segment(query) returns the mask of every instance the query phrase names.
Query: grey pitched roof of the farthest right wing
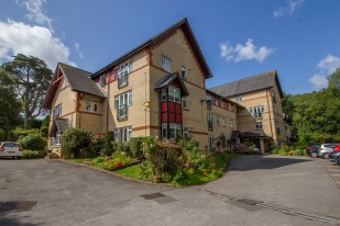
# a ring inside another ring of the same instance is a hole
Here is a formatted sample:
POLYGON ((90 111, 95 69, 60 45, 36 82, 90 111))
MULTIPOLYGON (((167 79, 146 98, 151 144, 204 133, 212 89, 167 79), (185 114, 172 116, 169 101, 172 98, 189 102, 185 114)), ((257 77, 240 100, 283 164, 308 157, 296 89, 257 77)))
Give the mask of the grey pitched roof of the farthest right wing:
POLYGON ((282 88, 278 81, 276 70, 271 70, 264 74, 252 76, 238 81, 229 82, 218 87, 212 87, 209 90, 216 92, 222 97, 229 98, 238 94, 243 94, 248 92, 253 92, 257 90, 263 90, 267 88, 273 88, 277 84, 281 98, 283 97, 282 88))

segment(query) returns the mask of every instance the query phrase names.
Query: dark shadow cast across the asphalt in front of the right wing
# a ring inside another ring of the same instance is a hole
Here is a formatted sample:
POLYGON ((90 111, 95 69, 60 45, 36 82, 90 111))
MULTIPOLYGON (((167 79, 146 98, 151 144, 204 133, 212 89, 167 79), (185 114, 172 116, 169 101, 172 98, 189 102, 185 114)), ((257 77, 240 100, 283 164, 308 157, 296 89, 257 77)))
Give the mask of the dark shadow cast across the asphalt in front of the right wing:
POLYGON ((271 157, 271 156, 242 156, 232 159, 228 171, 249 171, 256 169, 275 169, 295 163, 312 161, 308 158, 271 157))

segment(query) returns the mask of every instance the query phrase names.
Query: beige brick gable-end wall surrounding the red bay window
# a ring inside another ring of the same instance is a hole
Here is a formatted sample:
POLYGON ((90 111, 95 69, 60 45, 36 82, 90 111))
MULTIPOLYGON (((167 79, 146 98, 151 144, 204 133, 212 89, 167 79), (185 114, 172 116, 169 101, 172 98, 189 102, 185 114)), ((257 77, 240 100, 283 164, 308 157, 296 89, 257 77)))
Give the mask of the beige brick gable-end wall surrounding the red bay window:
MULTIPOLYGON (((188 69, 188 77, 184 83, 189 92, 188 110, 183 111, 183 127, 189 128, 189 134, 200 142, 201 147, 208 144, 207 137, 207 106, 201 100, 206 100, 205 77, 194 56, 188 42, 180 29, 167 39, 152 49, 151 67, 151 124, 158 125, 158 94, 154 91, 154 83, 169 72, 161 69, 161 56, 172 60, 172 71, 180 75, 182 66, 188 69)), ((153 134, 158 132, 154 131, 153 134)))

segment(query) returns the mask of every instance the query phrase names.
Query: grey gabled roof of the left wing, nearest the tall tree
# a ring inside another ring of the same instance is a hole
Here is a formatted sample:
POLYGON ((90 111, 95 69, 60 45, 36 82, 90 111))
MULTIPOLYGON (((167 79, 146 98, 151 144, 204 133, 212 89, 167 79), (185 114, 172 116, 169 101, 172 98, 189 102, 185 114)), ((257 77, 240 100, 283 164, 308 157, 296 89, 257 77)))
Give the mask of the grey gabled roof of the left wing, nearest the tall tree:
POLYGON ((47 94, 43 103, 43 109, 51 109, 53 98, 58 89, 58 86, 56 83, 53 83, 57 78, 58 70, 62 71, 64 78, 67 80, 69 84, 69 88, 73 91, 83 92, 103 99, 107 98, 106 94, 99 88, 99 86, 96 83, 96 81, 90 79, 91 76, 90 72, 72 67, 69 65, 58 63, 55 70, 54 79, 52 80, 48 87, 47 94))

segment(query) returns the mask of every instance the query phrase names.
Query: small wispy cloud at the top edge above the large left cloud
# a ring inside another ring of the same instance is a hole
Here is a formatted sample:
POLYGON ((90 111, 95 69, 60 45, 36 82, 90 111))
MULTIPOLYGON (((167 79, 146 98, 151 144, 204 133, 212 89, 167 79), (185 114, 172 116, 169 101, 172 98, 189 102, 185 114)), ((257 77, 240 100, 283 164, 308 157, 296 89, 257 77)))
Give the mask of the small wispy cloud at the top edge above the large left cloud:
POLYGON ((47 25, 53 32, 52 19, 47 16, 46 11, 43 9, 43 4, 46 3, 46 0, 17 0, 17 3, 29 11, 29 13, 25 14, 26 19, 35 21, 41 25, 47 25))

